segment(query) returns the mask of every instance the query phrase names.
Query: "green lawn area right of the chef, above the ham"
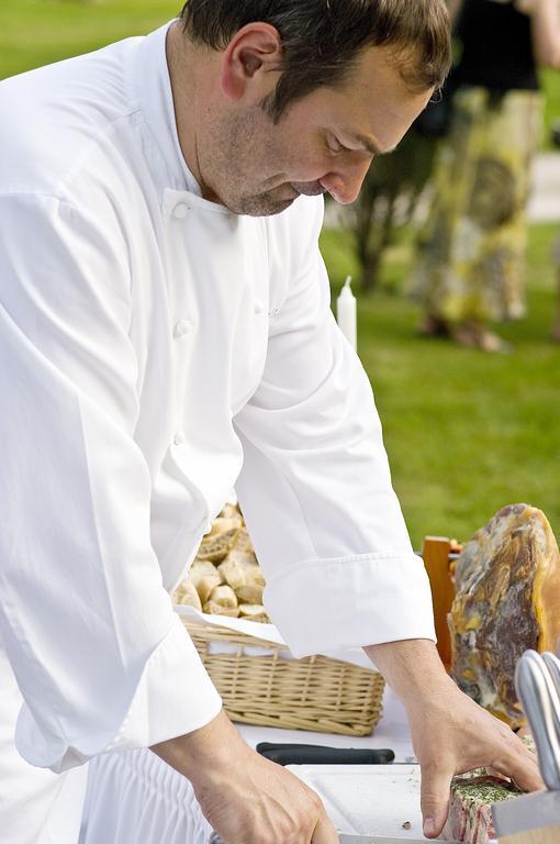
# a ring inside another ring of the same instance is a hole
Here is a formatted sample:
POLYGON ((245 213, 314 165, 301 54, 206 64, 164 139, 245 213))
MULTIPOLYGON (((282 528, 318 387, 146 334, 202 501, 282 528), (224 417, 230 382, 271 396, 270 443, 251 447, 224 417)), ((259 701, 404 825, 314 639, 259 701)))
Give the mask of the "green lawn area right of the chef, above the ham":
MULTIPOLYGON (((410 266, 405 247, 389 255, 382 292, 358 293, 359 353, 416 545, 426 533, 469 537, 515 501, 544 509, 560 534, 560 348, 548 340, 556 233, 531 227, 529 314, 500 327, 509 355, 416 335, 416 304, 393 290, 410 266)), ((336 293, 356 268, 348 234, 327 231, 322 246, 336 293)))

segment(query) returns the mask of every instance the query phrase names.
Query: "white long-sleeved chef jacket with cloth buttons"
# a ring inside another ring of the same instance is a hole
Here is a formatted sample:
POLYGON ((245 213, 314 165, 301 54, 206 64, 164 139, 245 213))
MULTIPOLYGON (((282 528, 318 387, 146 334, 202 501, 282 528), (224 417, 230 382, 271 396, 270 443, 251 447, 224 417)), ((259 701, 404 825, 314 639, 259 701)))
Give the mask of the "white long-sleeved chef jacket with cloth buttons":
POLYGON ((167 29, 0 85, 0 635, 54 771, 220 710, 169 591, 233 485, 294 654, 434 638, 322 200, 201 198, 167 29))

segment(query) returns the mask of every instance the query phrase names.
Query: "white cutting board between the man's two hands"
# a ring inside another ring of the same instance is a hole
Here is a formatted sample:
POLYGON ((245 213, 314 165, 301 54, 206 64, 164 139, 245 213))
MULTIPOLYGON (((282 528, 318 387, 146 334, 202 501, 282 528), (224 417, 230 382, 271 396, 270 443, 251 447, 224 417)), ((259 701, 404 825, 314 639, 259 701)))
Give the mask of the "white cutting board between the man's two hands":
POLYGON ((290 770, 320 795, 339 832, 424 837, 419 765, 290 765, 290 770))

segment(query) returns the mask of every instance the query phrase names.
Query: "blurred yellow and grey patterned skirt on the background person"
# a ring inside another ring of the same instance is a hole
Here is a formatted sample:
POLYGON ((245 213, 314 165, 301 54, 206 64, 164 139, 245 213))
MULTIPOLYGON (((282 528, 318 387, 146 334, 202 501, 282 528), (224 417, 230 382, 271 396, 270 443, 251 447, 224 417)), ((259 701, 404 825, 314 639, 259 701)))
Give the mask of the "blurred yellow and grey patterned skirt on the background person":
POLYGON ((448 325, 525 313, 525 210, 540 127, 537 91, 460 89, 419 238, 415 293, 448 325))

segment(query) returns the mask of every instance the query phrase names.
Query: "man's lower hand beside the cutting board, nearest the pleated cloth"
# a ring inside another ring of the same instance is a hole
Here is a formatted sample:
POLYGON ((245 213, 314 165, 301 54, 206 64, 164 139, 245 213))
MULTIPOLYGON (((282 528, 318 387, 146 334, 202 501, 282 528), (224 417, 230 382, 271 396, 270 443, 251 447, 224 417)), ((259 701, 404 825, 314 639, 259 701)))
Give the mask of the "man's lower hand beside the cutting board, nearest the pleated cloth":
POLYGON ((224 712, 152 749, 190 779, 224 844, 338 844, 317 795, 250 749, 224 712))

